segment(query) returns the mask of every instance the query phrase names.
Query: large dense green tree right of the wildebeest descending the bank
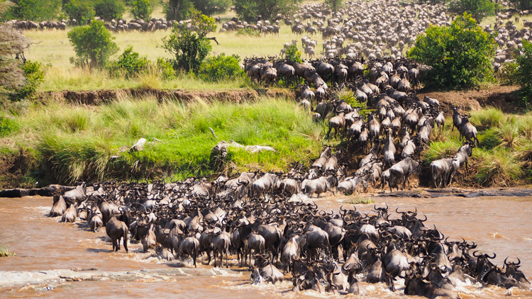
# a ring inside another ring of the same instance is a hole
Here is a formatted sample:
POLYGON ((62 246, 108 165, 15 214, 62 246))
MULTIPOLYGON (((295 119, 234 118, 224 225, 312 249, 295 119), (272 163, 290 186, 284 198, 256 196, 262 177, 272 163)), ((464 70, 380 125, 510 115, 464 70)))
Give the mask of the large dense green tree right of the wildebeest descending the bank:
POLYGON ((477 26, 469 13, 450 26, 430 26, 408 52, 411 59, 428 64, 428 85, 448 89, 470 88, 493 77, 493 35, 477 26))

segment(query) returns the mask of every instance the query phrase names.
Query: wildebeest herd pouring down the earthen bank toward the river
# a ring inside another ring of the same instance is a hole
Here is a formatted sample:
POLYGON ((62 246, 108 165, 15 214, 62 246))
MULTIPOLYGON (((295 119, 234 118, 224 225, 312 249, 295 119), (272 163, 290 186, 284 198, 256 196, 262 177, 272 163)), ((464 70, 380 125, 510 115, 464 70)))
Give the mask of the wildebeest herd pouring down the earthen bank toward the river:
MULTIPOLYGON (((420 71, 411 60, 335 58, 299 63, 248 58, 245 62, 248 76, 257 83, 269 85, 280 77, 294 86, 304 80, 306 84, 298 85, 299 104, 312 110, 316 121, 328 120, 328 140, 331 135, 335 140, 343 137, 338 145, 341 150, 323 151, 301 176, 302 191, 306 191, 304 179, 318 179, 323 174, 329 174, 331 185, 331 181, 338 182, 338 190, 344 192, 355 192, 358 186, 366 191, 369 184, 378 187, 379 181, 382 188, 388 184, 392 190, 402 180, 406 188, 410 175, 419 173, 419 157, 430 144, 434 128, 441 130, 445 125, 443 104, 436 98, 416 96, 412 86, 419 84, 420 71), (341 100, 341 89, 352 91, 366 108, 353 108, 341 100), (356 162, 353 153, 366 156, 356 162), (352 175, 346 177, 348 174, 352 175)), ((479 142, 477 129, 469 121, 471 115, 461 114, 458 106, 449 108, 453 111, 453 130, 458 129, 464 144, 454 156, 427 165, 436 187, 449 186, 460 167, 465 165, 467 170, 467 159, 479 142)))

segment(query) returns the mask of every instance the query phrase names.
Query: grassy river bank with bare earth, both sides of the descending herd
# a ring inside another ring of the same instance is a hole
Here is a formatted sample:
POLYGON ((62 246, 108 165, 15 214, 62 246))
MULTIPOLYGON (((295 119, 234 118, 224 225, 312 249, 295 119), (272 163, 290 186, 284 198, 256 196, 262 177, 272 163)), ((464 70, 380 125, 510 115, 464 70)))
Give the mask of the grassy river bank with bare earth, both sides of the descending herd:
MULTIPOLYGON (((469 171, 453 186, 514 187, 532 182, 532 113, 518 113, 516 86, 480 91, 419 91, 444 106, 470 111, 479 130, 469 171), (492 108, 498 107, 498 108, 492 108), (505 113, 505 111, 507 113, 505 113)), ((248 169, 287 172, 294 162, 309 167, 323 145, 344 150, 345 140, 328 140, 328 123, 311 113, 286 89, 179 91, 119 89, 42 94, 38 103, 0 113, 0 189, 33 188, 84 181, 175 181, 187 176, 215 178, 248 169), (213 129, 211 132, 210 129, 213 129), (143 151, 129 150, 145 138, 143 151), (223 164, 211 159, 221 140, 265 145, 275 152, 231 150, 223 164)), ((431 186, 430 162, 452 157, 462 145, 450 111, 443 129, 419 158, 419 186, 431 186)), ((365 152, 345 161, 354 171, 365 152)), ((397 154, 396 160, 399 159, 397 154)))

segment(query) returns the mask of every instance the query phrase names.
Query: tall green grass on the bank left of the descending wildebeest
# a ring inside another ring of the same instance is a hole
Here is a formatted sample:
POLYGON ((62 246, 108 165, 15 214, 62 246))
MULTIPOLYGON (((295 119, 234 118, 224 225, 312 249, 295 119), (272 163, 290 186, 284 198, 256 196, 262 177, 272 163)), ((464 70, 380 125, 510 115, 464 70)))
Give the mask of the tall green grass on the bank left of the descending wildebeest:
POLYGON ((287 171, 294 161, 314 159, 323 137, 323 127, 309 113, 282 98, 239 104, 123 98, 95 107, 50 101, 13 118, 20 124, 18 133, 0 143, 6 149, 35 149, 41 169, 36 176, 43 184, 212 176, 211 148, 221 140, 276 150, 250 154, 230 149, 229 171, 287 171), (119 150, 141 137, 148 140, 145 150, 119 150))

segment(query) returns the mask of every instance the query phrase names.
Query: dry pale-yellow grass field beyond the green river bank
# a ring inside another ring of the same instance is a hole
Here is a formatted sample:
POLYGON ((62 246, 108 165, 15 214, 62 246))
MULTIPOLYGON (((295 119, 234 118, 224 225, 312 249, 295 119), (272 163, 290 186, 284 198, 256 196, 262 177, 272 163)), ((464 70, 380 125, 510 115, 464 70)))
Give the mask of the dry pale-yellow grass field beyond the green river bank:
MULTIPOLYGON (((218 24, 221 28, 221 24, 218 24)), ((82 69, 70 63, 70 57, 74 57, 74 50, 67 38, 68 28, 65 31, 44 30, 27 31, 25 34, 31 38, 33 44, 26 53, 28 60, 34 60, 45 64, 45 81, 38 91, 60 90, 97 90, 97 89, 121 89, 134 87, 148 87, 155 89, 189 89, 189 90, 219 90, 239 89, 246 86, 245 81, 228 81, 218 84, 205 83, 183 74, 177 79, 163 80, 157 74, 145 74, 134 79, 123 77, 111 77, 107 72, 82 69)), ((217 30, 218 31, 218 30, 217 30)), ((155 61, 157 57, 169 58, 170 55, 162 49, 162 38, 170 34, 167 31, 155 31, 153 33, 126 32, 113 33, 115 42, 120 47, 121 53, 128 46, 140 55, 147 56, 155 61)), ((298 40, 301 47, 302 35, 292 34, 288 26, 281 25, 279 35, 235 35, 231 33, 211 33, 216 37, 220 45, 212 43, 211 55, 225 53, 226 55, 238 55, 243 60, 245 57, 267 57, 279 55, 284 43, 289 40, 298 40)), ((321 35, 314 35, 321 49, 321 35)), ((118 54, 119 54, 118 53, 118 54)), ((118 55, 117 54, 117 55, 118 55)))

